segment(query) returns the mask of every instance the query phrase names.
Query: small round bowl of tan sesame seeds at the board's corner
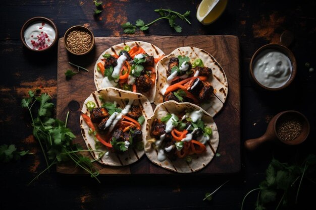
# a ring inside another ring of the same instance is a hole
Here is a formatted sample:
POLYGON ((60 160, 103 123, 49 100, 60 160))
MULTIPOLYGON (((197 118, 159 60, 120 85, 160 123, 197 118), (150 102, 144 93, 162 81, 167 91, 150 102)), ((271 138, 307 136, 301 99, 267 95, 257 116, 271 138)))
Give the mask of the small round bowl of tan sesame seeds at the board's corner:
POLYGON ((94 36, 87 27, 73 26, 66 31, 64 44, 70 53, 85 55, 94 47, 94 36))

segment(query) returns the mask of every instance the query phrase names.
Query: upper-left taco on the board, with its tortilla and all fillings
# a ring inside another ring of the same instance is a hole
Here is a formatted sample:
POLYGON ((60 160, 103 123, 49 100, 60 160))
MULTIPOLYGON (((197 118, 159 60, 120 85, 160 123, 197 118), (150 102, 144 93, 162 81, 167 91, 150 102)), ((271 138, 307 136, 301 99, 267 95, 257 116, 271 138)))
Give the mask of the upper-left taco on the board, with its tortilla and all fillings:
POLYGON ((116 87, 145 95, 152 103, 156 91, 156 63, 164 52, 142 41, 126 42, 104 51, 94 66, 96 89, 116 87))

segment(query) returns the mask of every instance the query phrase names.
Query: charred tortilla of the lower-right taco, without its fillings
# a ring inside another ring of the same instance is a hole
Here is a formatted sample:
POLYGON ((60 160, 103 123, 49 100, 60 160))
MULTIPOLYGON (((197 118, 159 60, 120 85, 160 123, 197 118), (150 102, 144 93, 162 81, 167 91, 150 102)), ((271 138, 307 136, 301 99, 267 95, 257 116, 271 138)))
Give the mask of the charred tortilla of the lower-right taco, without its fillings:
POLYGON ((191 155, 192 161, 186 162, 185 158, 180 159, 177 158, 175 161, 171 161, 168 158, 160 162, 157 159, 158 151, 154 148, 153 142, 154 137, 150 136, 151 125, 154 119, 161 119, 162 117, 166 116, 168 113, 174 113, 175 115, 179 115, 183 113, 185 110, 201 110, 201 108, 197 105, 191 103, 178 103, 175 101, 167 101, 158 106, 156 106, 153 116, 147 120, 146 130, 146 142, 145 142, 145 153, 149 160, 165 169, 175 171, 178 173, 191 173, 204 168, 214 157, 216 154, 216 150, 219 145, 220 136, 217 129, 217 126, 213 120, 213 117, 210 116, 207 112, 203 111, 203 116, 201 120, 204 122, 206 126, 212 128, 212 136, 209 136, 209 140, 206 142, 206 151, 202 154, 195 154, 191 155))

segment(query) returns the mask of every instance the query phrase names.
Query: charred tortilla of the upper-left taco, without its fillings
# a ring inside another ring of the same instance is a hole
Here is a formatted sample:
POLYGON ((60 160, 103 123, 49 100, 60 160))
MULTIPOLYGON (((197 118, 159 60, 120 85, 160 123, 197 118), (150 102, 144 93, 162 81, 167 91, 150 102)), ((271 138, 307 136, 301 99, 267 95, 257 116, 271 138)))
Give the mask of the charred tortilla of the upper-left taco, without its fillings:
MULTIPOLYGON (((153 56, 154 58, 157 58, 157 57, 164 55, 164 52, 159 47, 157 47, 153 44, 150 44, 148 42, 143 42, 143 41, 126 42, 126 43, 121 43, 121 44, 117 44, 117 45, 110 47, 109 49, 107 49, 106 51, 101 53, 101 55, 99 56, 99 58, 97 59, 95 65, 94 65, 94 84, 95 84, 96 90, 99 90, 102 88, 101 84, 102 84, 102 80, 104 78, 104 76, 101 73, 99 73, 96 69, 97 63, 101 62, 101 59, 104 58, 102 55, 106 54, 106 53, 119 54, 120 51, 125 46, 129 46, 130 48, 132 48, 136 45, 141 46, 149 56, 153 56)), ((155 68, 156 65, 157 64, 154 63, 153 67, 155 68)), ((157 81, 157 77, 156 77, 156 81, 157 81)), ((153 87, 148 92, 140 92, 141 94, 143 94, 144 96, 146 96, 148 98, 150 103, 152 103, 154 100, 154 95, 156 92, 156 87, 155 87, 156 81, 155 81, 155 84, 153 85, 153 87)))

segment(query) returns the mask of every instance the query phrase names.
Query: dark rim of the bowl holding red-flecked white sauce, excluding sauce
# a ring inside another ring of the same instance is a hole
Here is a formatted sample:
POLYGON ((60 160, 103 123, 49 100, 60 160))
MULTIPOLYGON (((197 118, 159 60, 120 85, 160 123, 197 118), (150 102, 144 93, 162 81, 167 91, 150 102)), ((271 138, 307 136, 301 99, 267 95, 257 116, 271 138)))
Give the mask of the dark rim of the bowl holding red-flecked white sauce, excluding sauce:
POLYGON ((58 29, 57 29, 57 26, 54 22, 52 22, 52 20, 48 19, 48 18, 45 18, 45 17, 42 17, 42 16, 36 16, 36 17, 33 17, 33 18, 30 18, 28 19, 22 26, 21 28, 21 31, 20 31, 20 38, 21 38, 21 41, 23 42, 24 46, 34 52, 42 52, 42 51, 47 51, 49 49, 51 49, 53 46, 55 46, 55 44, 57 43, 57 40, 58 40, 58 29), (54 41, 52 41, 52 43, 46 47, 45 49, 41 49, 41 50, 38 50, 38 49, 33 49, 31 47, 29 47, 25 41, 25 38, 24 38, 24 32, 26 30, 26 28, 34 23, 34 22, 38 22, 38 21, 45 21, 45 22, 48 22, 52 28, 54 28, 55 30, 55 39, 54 41))

